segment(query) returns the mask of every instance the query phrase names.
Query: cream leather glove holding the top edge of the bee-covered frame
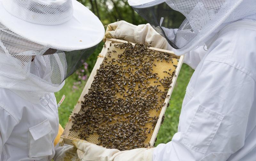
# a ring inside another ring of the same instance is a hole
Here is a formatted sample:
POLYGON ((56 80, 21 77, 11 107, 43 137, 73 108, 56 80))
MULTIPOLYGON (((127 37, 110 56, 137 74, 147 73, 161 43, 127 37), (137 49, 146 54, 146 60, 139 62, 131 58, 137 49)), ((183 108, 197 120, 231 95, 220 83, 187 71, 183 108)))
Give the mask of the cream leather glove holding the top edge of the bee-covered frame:
POLYGON ((168 42, 150 25, 132 25, 126 21, 117 21, 107 26, 105 37, 144 43, 155 48, 167 49, 168 42))

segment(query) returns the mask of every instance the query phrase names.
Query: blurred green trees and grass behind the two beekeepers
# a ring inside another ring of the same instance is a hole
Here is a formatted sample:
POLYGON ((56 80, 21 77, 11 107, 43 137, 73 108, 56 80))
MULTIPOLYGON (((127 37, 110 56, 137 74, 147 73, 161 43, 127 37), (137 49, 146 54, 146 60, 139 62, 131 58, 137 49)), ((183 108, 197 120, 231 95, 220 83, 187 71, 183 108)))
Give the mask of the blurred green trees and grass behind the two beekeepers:
MULTIPOLYGON (((135 11, 133 11, 127 0, 80 0, 79 2, 84 4, 96 16, 98 16, 105 28, 108 24, 118 20, 125 20, 134 25, 147 23, 135 11)), ((170 14, 173 19, 170 19, 169 23, 172 28, 178 28, 184 20, 184 17, 176 11, 170 12, 170 14)), ((98 48, 86 60, 86 62, 84 62, 83 66, 73 75, 68 77, 64 87, 59 92, 55 93, 57 103, 60 101, 62 95, 66 95, 66 99, 59 108, 60 124, 63 128, 68 122, 68 117, 72 113, 74 106, 76 106, 76 102, 84 89, 86 81, 90 76, 97 60, 97 56, 101 52, 103 45, 104 43, 100 42, 98 48)), ((170 106, 165 112, 164 123, 157 135, 156 145, 159 143, 168 143, 172 140, 172 136, 177 132, 182 100, 193 72, 194 70, 188 65, 182 65, 178 80, 172 92, 170 106)))

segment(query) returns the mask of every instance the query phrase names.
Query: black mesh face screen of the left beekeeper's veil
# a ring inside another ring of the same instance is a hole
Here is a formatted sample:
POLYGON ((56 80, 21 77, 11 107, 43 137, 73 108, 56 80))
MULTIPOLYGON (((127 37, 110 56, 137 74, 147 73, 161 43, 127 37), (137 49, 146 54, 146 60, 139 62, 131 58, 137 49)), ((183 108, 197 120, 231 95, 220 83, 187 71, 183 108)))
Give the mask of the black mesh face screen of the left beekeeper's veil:
POLYGON ((83 65, 85 60, 94 52, 97 46, 98 45, 84 50, 65 52, 65 57, 67 61, 67 75, 65 79, 72 75, 76 70, 78 70, 83 65))

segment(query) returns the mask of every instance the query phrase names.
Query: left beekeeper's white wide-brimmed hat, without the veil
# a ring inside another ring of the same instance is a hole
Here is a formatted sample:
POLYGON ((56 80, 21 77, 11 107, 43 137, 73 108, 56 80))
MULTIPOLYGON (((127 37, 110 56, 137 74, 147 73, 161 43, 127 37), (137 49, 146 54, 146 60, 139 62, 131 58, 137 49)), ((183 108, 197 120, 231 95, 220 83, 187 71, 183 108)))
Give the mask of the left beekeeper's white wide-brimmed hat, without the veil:
POLYGON ((91 48, 104 26, 76 0, 0 0, 0 23, 24 39, 72 51, 91 48))

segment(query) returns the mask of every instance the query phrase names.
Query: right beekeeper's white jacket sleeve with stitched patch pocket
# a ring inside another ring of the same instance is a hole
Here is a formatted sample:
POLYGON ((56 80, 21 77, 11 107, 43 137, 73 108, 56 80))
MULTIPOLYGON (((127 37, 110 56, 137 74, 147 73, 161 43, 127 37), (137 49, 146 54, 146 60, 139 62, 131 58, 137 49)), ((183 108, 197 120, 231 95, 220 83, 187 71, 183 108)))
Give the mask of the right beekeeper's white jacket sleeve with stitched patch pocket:
POLYGON ((182 107, 179 132, 156 147, 153 161, 226 161, 244 146, 254 90, 244 72, 204 61, 194 94, 182 107))

